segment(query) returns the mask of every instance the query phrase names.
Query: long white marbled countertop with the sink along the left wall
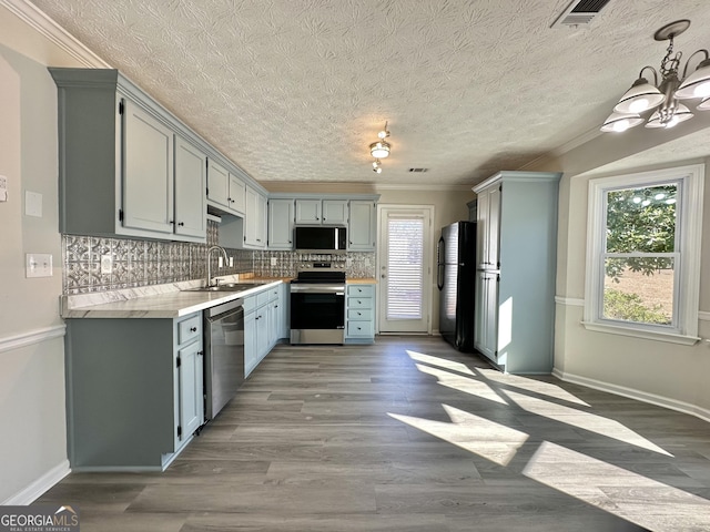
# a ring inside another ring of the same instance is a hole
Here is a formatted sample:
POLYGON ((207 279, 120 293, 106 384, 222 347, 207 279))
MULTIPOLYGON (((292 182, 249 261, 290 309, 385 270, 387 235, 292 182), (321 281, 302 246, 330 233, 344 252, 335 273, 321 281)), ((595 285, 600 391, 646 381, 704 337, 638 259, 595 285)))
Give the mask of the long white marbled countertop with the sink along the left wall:
POLYGON ((63 318, 179 318, 248 297, 283 282, 270 279, 258 283, 258 286, 243 291, 185 291, 200 286, 200 283, 186 282, 62 296, 61 315, 63 318))

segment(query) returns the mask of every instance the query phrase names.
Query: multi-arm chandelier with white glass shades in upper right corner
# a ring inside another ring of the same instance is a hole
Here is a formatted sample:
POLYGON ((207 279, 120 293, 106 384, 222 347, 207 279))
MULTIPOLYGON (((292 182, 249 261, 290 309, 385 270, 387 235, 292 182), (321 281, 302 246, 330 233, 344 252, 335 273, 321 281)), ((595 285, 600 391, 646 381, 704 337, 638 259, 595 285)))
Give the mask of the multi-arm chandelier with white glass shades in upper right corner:
POLYGON ((700 111, 710 110, 710 54, 708 50, 697 50, 686 61, 682 79, 678 76, 682 52, 673 54, 673 39, 690 27, 690 20, 677 20, 666 24, 653 33, 657 41, 669 41, 666 57, 661 61, 660 71, 653 66, 643 66, 639 79, 633 82, 613 108, 613 112, 605 121, 601 131, 622 132, 646 121, 646 127, 672 127, 680 122, 692 119, 693 114, 679 100, 702 99, 696 108, 700 111), (696 71, 688 75, 690 60, 697 54, 704 59, 696 71), (653 74, 653 84, 649 83, 643 73, 653 74), (660 83, 659 83, 660 73, 660 83), (641 114, 655 110, 648 117, 641 114))

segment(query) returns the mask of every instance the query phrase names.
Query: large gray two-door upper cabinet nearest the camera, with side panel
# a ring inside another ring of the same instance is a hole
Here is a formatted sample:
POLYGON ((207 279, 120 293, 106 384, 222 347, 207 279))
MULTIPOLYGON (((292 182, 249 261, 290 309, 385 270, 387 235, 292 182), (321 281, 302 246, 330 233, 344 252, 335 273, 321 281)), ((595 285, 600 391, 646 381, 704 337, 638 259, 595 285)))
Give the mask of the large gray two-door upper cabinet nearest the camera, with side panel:
POLYGON ((50 68, 58 86, 61 233, 206 237, 206 155, 115 70, 50 68))

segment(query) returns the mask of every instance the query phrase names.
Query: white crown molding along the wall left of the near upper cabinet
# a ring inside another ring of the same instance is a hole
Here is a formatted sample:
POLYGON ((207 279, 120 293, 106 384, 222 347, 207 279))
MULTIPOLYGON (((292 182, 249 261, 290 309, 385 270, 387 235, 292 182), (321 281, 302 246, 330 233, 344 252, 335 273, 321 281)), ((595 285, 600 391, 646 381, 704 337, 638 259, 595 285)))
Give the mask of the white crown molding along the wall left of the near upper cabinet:
POLYGON ((0 0, 0 7, 8 9, 26 24, 41 33, 84 66, 92 69, 111 68, 109 63, 89 50, 77 38, 28 0, 0 0))

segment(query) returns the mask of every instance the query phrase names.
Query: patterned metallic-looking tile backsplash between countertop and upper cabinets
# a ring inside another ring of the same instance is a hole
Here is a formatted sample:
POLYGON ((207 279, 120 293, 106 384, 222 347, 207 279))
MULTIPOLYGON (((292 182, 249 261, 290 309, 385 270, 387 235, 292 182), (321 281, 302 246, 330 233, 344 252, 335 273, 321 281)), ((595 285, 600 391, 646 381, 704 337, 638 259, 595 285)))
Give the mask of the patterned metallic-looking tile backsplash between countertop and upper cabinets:
MULTIPOLYGON (((62 235, 63 293, 87 294, 136 286, 160 285, 206 276, 206 253, 219 243, 219 224, 207 222, 206 244, 100 238, 62 235), (111 256, 111 273, 102 273, 101 259, 111 256)), ((227 249, 233 267, 217 269, 212 255, 212 272, 230 275, 254 272, 258 277, 294 277, 302 260, 344 260, 348 277, 374 277, 374 253, 346 255, 306 255, 295 252, 227 249), (273 260, 272 260, 273 259, 273 260)))

